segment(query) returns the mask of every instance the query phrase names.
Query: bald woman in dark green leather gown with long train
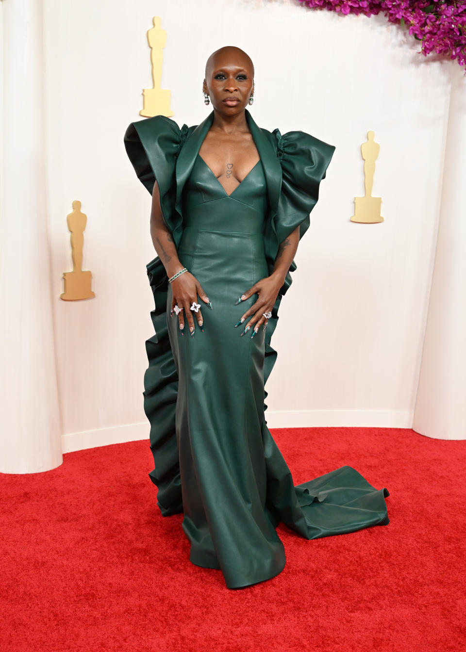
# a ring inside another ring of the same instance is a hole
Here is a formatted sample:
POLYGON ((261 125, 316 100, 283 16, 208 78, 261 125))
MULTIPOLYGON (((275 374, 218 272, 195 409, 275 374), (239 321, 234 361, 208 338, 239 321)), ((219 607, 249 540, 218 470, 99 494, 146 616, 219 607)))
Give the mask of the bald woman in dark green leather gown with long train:
POLYGON ((158 115, 125 147, 152 194, 148 265, 155 335, 146 342, 144 409, 157 504, 183 512, 192 563, 239 588, 279 574, 281 520, 305 539, 388 524, 385 497, 343 466, 293 485, 264 418, 264 383, 281 297, 335 147, 258 127, 254 68, 240 48, 214 52, 198 126, 158 115), (199 301, 198 301, 199 299, 199 301))

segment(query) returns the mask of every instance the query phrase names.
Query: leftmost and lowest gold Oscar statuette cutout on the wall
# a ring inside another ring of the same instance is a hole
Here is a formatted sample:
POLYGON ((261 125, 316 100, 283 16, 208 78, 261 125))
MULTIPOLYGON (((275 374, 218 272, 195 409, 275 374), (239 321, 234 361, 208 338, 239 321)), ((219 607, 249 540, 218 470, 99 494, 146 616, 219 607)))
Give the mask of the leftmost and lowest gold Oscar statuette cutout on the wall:
POLYGON ((84 244, 84 230, 87 222, 87 215, 81 213, 81 202, 78 200, 72 203, 72 213, 67 215, 68 229, 71 233, 71 259, 73 263, 72 272, 64 272, 65 291, 61 293, 63 301, 79 301, 79 299, 91 299, 95 294, 91 290, 91 272, 84 272, 82 266, 82 246, 84 244))

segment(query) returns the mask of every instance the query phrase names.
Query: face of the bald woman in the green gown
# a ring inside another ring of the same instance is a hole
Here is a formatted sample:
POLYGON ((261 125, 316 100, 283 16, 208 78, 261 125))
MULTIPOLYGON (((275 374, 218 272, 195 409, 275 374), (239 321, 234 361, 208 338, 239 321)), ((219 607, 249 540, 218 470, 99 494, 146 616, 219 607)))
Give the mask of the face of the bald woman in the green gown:
POLYGON ((215 57, 206 70, 204 91, 215 110, 225 115, 243 111, 253 91, 254 69, 246 57, 215 57))

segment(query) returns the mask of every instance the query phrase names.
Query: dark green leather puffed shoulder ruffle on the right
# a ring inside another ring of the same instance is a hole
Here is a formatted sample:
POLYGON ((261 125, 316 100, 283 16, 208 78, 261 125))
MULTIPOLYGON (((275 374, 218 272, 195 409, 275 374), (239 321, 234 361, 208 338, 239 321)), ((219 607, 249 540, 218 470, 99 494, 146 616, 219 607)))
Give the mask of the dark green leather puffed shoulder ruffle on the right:
POLYGON ((304 131, 288 131, 282 136, 279 129, 274 129, 272 134, 282 170, 275 218, 275 231, 281 243, 298 225, 300 238, 309 228, 309 213, 317 203, 320 181, 325 179, 335 146, 304 131))

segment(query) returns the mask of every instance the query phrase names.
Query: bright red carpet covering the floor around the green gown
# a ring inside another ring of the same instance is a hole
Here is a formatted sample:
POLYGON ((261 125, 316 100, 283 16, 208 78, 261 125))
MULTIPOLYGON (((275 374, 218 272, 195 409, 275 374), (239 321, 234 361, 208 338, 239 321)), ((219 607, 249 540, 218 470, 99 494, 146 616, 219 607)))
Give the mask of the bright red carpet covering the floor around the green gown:
POLYGON ((386 487, 390 524, 306 541, 231 591, 164 518, 148 441, 0 475, 0 649, 138 652, 466 649, 466 441, 388 428, 273 430, 294 484, 349 464, 386 487))

